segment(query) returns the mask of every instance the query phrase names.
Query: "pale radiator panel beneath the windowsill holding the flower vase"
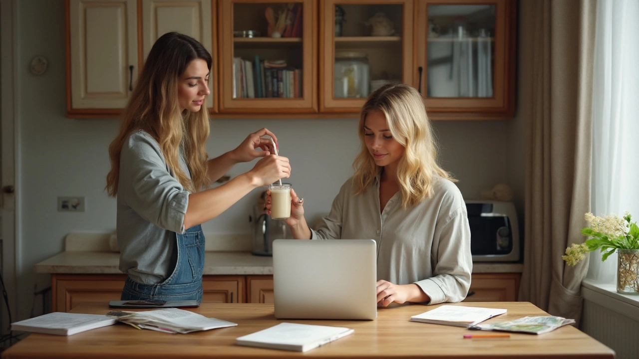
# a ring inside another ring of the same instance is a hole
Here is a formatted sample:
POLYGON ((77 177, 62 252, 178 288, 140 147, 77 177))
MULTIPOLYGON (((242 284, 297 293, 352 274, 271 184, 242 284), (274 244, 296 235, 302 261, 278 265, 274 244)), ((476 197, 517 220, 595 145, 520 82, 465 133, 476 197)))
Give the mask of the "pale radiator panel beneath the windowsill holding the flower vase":
POLYGON ((639 358, 639 302, 593 289, 581 287, 581 331, 613 349, 617 359, 639 358))

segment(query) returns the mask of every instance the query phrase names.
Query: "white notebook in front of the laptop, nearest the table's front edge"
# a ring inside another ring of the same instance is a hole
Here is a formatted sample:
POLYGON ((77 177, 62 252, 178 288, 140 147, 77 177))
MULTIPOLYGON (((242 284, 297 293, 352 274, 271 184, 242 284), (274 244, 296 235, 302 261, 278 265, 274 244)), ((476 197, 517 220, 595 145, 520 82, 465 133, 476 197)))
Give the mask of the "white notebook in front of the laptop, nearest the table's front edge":
POLYGON ((235 340, 241 346, 309 351, 353 333, 341 326, 280 323, 235 340))

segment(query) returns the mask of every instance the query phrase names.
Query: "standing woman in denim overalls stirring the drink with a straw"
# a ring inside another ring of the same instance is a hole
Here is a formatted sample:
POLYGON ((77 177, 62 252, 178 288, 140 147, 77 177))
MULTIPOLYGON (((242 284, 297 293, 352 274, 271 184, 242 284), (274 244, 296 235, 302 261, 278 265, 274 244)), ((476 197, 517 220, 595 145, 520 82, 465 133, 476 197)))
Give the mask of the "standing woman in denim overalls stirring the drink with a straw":
MULTIPOLYGON (((253 188, 288 178, 263 128, 208 159, 206 96, 211 55, 194 38, 167 33, 151 48, 109 146, 107 191, 118 202, 121 300, 202 300, 203 222, 253 188), (258 150, 261 148, 261 151, 258 150), (244 174, 208 188, 233 165, 263 157, 244 174)), ((275 142, 277 143, 277 142, 275 142)))

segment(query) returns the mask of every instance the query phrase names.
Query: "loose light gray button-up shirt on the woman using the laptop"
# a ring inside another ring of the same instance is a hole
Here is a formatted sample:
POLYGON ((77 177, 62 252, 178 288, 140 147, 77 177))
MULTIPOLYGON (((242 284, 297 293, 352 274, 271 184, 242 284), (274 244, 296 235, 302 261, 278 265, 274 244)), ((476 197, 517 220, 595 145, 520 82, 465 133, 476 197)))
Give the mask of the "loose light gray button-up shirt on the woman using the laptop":
POLYGON ((351 183, 344 183, 311 239, 372 238, 378 280, 415 283, 429 304, 461 302, 470 287, 472 257, 466 205, 454 183, 436 177, 433 197, 408 208, 397 192, 381 215, 380 176, 360 195, 351 183))

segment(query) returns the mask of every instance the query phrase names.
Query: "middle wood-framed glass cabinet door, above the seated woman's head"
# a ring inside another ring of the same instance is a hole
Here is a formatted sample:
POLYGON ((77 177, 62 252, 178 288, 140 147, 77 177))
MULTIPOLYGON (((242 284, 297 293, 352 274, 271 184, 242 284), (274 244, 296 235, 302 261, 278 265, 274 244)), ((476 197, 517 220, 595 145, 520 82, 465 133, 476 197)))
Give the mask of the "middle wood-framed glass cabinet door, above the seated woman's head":
POLYGON ((413 16, 410 0, 320 2, 321 112, 358 112, 384 84, 412 84, 413 16))

